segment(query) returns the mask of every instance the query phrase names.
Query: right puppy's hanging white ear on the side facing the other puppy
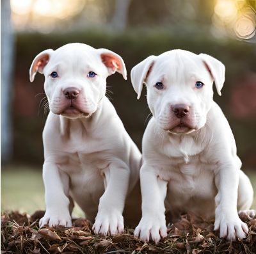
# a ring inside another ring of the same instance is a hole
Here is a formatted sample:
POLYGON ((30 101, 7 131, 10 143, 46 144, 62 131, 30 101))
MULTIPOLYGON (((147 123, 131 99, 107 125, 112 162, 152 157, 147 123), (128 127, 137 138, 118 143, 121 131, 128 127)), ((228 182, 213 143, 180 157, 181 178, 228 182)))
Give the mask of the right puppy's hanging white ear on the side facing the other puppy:
POLYGON ((148 58, 138 63, 138 65, 135 65, 131 70, 132 86, 136 93, 138 93, 137 99, 140 99, 143 83, 154 65, 155 60, 156 56, 148 56, 148 58))

